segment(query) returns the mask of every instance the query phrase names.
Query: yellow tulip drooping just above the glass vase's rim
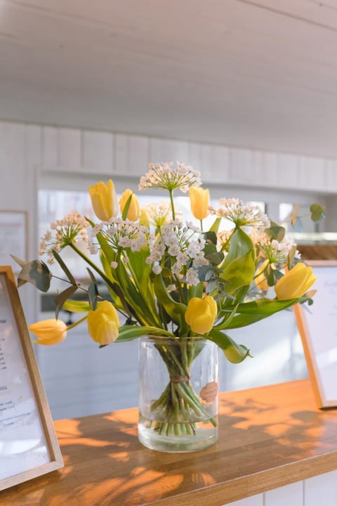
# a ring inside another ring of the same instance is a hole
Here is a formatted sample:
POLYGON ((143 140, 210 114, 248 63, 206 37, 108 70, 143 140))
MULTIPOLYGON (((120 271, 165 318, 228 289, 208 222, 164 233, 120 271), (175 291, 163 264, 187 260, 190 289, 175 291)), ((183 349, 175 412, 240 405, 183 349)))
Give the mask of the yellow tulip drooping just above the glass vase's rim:
POLYGON ((203 335, 213 328, 217 313, 218 307, 211 295, 207 295, 204 299, 192 297, 187 304, 185 321, 190 325, 192 332, 203 335))

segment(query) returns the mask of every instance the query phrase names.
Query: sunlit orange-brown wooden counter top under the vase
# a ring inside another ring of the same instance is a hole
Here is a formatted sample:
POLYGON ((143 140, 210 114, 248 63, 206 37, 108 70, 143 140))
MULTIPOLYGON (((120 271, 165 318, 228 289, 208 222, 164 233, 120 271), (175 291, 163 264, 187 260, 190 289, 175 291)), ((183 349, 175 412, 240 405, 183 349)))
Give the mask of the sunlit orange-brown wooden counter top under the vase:
POLYGON ((310 382, 220 394, 218 443, 148 450, 136 408, 55 422, 65 467, 0 493, 1 506, 220 506, 337 468, 337 409, 310 382))

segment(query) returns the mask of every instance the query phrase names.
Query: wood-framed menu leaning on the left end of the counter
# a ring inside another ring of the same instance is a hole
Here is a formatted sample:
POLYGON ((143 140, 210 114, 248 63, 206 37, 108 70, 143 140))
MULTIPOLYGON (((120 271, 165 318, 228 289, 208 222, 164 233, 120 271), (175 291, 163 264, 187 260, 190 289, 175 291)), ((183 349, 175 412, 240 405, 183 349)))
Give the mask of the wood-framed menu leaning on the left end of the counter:
POLYGON ((0 490, 63 466, 11 266, 0 266, 0 490))

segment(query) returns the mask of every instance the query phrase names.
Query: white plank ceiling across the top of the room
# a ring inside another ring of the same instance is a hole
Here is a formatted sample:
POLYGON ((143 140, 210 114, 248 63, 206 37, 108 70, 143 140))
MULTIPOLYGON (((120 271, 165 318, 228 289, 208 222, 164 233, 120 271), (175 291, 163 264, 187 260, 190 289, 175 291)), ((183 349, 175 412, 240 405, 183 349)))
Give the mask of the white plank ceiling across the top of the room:
POLYGON ((337 0, 0 0, 0 119, 337 157, 337 0))

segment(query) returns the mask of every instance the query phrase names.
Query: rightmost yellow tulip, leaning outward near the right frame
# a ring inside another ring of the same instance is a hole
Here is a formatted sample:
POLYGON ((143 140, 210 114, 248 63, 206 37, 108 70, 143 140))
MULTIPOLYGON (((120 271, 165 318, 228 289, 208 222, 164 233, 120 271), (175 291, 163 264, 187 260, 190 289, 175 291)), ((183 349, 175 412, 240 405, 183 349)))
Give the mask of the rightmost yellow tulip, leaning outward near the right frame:
POLYGON ((288 271, 275 285, 277 299, 298 299, 308 292, 311 285, 315 283, 316 276, 312 268, 305 264, 298 263, 288 271))

